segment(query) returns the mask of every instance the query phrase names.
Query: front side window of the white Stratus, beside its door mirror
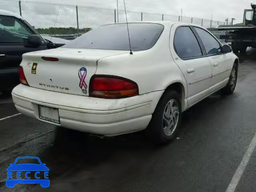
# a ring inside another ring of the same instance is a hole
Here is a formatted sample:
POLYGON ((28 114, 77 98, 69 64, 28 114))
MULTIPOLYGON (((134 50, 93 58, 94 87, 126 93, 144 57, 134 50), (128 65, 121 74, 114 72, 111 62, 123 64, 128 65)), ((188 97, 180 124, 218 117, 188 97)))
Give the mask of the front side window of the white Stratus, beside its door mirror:
POLYGON ((194 29, 202 40, 207 55, 219 54, 221 52, 219 42, 210 33, 198 27, 194 27, 194 29))

